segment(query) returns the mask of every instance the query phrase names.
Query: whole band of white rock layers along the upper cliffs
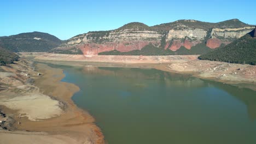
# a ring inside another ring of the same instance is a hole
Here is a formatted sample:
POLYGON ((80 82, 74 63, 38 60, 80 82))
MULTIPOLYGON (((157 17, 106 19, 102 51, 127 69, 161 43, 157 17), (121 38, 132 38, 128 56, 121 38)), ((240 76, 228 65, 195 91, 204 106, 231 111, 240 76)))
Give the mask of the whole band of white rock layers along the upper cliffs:
MULTIPOLYGON (((240 38, 243 35, 251 32, 254 27, 241 27, 241 28, 213 28, 209 38, 223 38, 234 39, 240 38)), ((68 40, 65 45, 78 45, 80 43, 89 44, 94 41, 102 40, 102 44, 105 42, 122 42, 122 41, 160 41, 164 36, 163 33, 141 29, 124 29, 121 31, 113 30, 109 32, 89 32, 85 34, 77 35, 68 40), (100 35, 100 36, 99 36, 100 35), (97 38, 96 38, 97 37, 97 38)), ((207 36, 207 30, 200 28, 183 27, 181 29, 171 29, 167 33, 166 41, 172 39, 184 39, 186 37, 202 41, 207 36)), ((207 38, 208 39, 208 38, 207 38)))

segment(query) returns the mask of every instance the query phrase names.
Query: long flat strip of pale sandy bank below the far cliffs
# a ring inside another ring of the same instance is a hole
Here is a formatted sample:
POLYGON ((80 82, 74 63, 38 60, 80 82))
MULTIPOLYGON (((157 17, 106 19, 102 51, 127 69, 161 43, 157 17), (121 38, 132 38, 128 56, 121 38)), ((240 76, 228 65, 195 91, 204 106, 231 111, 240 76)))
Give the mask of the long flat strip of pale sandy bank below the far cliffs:
MULTIPOLYGON (((40 53, 34 59, 46 61, 73 61, 73 62, 105 62, 105 63, 170 63, 196 59, 198 55, 176 56, 103 56, 103 55, 65 55, 58 53, 40 53)), ((25 57, 28 53, 22 53, 25 57)), ((31 55, 30 55, 31 56, 31 55)), ((32 55, 33 56, 33 55, 32 55)))

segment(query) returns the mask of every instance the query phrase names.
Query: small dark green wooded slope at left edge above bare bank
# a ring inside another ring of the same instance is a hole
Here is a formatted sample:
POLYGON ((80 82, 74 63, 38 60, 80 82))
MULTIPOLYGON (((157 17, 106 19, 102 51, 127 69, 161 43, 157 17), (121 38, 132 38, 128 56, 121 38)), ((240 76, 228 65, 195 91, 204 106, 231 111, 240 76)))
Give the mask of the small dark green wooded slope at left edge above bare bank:
POLYGON ((18 61, 19 56, 0 47, 0 65, 6 65, 18 61))

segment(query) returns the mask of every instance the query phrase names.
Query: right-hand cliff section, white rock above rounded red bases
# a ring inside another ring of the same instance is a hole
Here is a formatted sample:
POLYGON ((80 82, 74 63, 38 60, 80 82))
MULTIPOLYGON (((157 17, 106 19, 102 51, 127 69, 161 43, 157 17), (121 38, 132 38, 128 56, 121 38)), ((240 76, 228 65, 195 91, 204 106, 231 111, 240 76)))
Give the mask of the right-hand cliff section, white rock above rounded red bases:
MULTIPOLYGON (((253 27, 241 28, 212 28, 205 29, 184 28, 179 30, 171 29, 168 32, 166 42, 174 39, 170 50, 176 51, 181 46, 191 49, 196 44, 203 43, 206 40, 206 46, 211 49, 219 47, 221 44, 229 44, 232 40, 241 38, 243 35, 251 32, 253 27), (208 37, 207 37, 208 35, 208 37), (179 40, 176 40, 179 39, 179 40)), ((170 45, 170 43, 168 43, 170 45)), ((166 48, 166 47, 165 47, 166 48)))

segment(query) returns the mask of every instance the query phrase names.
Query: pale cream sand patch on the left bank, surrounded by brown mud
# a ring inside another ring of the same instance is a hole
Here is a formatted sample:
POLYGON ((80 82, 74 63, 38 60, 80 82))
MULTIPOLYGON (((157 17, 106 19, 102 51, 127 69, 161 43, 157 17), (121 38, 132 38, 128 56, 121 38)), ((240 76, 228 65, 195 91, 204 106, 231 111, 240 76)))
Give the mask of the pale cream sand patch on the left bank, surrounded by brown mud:
POLYGON ((4 97, 0 96, 0 105, 4 105, 9 109, 18 110, 20 115, 28 117, 31 121, 60 116, 63 112, 61 103, 51 99, 47 95, 20 94, 18 97, 10 98, 10 94, 5 94, 4 97))

